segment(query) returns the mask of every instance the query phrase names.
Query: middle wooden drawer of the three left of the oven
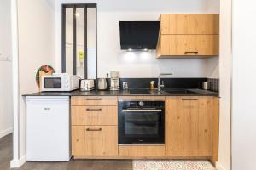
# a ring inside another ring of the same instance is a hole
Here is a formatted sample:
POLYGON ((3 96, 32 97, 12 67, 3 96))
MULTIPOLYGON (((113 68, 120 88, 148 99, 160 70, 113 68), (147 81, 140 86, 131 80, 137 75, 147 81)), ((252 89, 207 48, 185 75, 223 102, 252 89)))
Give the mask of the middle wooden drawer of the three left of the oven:
POLYGON ((72 125, 117 125, 117 106, 72 106, 72 125))

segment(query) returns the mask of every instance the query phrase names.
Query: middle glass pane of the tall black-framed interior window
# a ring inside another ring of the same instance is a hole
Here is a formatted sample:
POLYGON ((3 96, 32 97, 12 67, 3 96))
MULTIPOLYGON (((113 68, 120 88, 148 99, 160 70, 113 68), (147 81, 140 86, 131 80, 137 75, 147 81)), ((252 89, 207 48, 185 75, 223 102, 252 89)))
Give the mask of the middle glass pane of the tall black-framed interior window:
POLYGON ((84 8, 76 8, 77 75, 84 79, 84 8))

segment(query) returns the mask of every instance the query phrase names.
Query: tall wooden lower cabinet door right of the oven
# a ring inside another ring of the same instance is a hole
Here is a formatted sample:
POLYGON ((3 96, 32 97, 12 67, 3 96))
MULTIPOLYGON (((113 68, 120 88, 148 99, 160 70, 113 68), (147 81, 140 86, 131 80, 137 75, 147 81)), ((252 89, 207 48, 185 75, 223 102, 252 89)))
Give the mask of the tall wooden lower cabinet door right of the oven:
POLYGON ((166 99, 166 156, 210 156, 212 150, 211 99, 166 99))

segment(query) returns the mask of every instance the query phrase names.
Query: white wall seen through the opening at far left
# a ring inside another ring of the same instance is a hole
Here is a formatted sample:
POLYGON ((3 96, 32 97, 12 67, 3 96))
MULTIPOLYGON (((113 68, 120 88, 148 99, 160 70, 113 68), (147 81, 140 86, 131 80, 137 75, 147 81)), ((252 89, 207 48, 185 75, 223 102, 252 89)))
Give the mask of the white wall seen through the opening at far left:
POLYGON ((0 138, 13 130, 10 1, 0 0, 0 138))

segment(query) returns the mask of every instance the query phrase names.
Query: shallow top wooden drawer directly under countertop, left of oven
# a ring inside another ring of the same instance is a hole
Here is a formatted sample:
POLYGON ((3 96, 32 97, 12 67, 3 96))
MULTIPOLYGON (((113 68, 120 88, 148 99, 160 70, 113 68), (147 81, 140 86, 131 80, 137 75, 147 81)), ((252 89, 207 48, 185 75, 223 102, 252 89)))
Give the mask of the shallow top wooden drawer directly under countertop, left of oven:
POLYGON ((76 96, 71 105, 117 105, 116 96, 76 96))

